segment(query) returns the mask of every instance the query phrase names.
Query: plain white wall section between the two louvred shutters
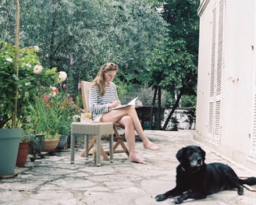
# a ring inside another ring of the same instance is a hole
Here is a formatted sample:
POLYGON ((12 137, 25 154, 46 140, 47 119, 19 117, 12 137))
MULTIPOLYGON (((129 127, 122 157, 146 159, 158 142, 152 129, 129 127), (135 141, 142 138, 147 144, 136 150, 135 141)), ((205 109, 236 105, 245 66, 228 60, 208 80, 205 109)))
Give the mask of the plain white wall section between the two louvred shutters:
POLYGON ((226 1, 222 144, 247 154, 251 133, 254 0, 226 1), (246 2, 246 3, 245 3, 246 2))

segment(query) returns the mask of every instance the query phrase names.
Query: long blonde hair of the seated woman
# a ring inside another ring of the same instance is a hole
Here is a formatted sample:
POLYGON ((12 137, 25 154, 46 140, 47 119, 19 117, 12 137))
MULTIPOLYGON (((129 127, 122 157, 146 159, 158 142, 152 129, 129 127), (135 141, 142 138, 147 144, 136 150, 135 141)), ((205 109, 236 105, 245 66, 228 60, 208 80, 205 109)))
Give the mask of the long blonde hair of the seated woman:
POLYGON ((107 62, 104 65, 101 65, 101 69, 93 80, 94 85, 99 87, 101 95, 105 94, 105 73, 110 70, 116 70, 116 72, 118 72, 118 65, 113 62, 107 62))

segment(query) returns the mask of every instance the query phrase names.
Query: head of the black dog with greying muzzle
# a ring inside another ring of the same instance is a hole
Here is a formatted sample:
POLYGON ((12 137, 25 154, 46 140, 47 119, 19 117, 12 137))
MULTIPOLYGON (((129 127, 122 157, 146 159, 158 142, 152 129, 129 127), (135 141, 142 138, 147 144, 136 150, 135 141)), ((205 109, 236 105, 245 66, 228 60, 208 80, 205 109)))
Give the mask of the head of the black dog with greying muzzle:
POLYGON ((180 149, 176 158, 180 161, 181 167, 185 171, 197 172, 200 170, 205 160, 205 151, 198 146, 187 146, 180 149))

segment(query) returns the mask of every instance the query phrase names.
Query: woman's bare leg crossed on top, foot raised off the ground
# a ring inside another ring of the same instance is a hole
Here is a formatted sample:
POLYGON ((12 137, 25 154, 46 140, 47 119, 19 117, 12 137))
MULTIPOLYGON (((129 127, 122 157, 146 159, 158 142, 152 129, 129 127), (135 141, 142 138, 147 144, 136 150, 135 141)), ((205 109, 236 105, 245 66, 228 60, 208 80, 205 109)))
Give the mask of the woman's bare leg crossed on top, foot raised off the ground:
MULTIPOLYGON (((143 141, 144 148, 150 150, 159 150, 160 147, 158 147, 154 143, 151 143, 151 141, 148 140, 148 137, 144 135, 144 130, 141 127, 140 119, 137 116, 137 111, 133 106, 128 106, 126 108, 109 111, 108 113, 102 116, 101 122, 119 122, 119 120, 123 118, 125 115, 129 115, 130 118, 132 119, 133 128, 136 130, 136 132, 140 136, 140 139, 143 141)), ((124 122, 119 123, 124 125, 124 122)))

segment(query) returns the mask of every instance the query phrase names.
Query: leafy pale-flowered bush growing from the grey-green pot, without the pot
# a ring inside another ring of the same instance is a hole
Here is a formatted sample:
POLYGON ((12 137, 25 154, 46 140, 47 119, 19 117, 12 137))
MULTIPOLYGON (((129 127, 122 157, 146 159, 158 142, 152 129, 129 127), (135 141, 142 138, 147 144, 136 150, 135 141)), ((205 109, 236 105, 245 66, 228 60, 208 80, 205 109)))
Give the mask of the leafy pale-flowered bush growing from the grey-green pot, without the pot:
POLYGON ((13 72, 16 49, 12 44, 0 41, 0 128, 22 126, 27 105, 34 94, 46 92, 48 85, 58 80, 56 68, 43 69, 37 56, 39 48, 20 48, 19 75, 13 72), (18 89, 18 90, 16 90, 18 89), (17 94, 17 95, 16 95, 17 94), (16 97, 16 105, 15 99, 16 97), (13 109, 16 107, 16 118, 13 125, 13 109))

